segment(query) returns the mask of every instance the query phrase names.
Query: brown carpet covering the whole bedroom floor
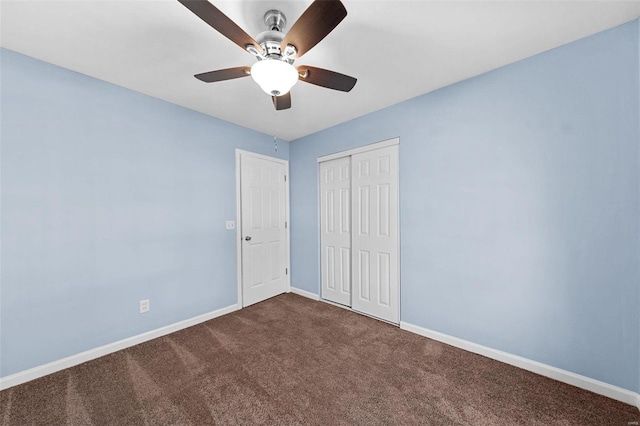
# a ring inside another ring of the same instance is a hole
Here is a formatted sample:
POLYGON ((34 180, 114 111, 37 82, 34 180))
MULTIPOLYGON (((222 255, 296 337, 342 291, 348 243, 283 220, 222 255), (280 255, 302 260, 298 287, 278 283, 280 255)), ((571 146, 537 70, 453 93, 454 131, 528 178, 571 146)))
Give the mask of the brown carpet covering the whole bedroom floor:
POLYGON ((635 407, 286 294, 0 392, 1 425, 620 425, 635 407))

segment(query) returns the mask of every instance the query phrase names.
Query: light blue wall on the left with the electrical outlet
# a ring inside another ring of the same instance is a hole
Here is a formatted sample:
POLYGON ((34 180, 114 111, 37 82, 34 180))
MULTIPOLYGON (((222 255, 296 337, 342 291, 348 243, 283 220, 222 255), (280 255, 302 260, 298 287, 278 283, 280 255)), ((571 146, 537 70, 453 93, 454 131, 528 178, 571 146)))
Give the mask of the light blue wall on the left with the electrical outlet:
POLYGON ((0 58, 0 376, 236 303, 235 148, 289 144, 0 58))

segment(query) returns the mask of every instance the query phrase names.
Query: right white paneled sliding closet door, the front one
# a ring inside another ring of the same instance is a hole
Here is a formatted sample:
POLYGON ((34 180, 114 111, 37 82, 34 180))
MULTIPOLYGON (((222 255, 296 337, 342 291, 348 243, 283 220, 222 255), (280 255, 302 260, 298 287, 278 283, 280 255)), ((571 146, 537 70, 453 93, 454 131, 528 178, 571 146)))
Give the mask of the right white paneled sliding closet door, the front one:
POLYGON ((399 318, 398 146, 351 158, 353 309, 399 318))

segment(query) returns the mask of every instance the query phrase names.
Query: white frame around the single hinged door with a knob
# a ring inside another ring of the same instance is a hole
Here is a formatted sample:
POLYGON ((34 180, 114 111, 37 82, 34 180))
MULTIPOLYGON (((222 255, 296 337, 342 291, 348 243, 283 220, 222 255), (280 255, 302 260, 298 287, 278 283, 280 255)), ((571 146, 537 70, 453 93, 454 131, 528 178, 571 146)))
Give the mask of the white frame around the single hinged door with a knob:
POLYGON ((286 167, 285 172, 285 220, 286 220, 286 245, 287 245, 287 275, 286 275, 286 291, 291 291, 291 239, 289 226, 289 161, 281 158, 269 157, 268 155, 256 154, 255 152, 245 151, 243 149, 236 148, 236 276, 238 285, 238 308, 244 307, 244 301, 242 300, 242 198, 240 194, 241 189, 241 173, 240 173, 240 158, 242 156, 260 158, 262 160, 274 161, 276 163, 284 164, 286 167))

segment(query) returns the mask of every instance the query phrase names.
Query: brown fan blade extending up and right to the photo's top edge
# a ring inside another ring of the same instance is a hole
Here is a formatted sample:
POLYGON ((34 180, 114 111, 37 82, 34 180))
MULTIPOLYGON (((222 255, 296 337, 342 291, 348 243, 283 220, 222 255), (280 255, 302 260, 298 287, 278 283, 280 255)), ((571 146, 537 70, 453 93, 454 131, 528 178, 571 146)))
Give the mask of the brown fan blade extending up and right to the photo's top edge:
POLYGON ((297 53, 290 57, 301 57, 333 31, 345 16, 347 9, 340 0, 315 0, 284 37, 281 50, 284 52, 287 44, 291 44, 297 53))

